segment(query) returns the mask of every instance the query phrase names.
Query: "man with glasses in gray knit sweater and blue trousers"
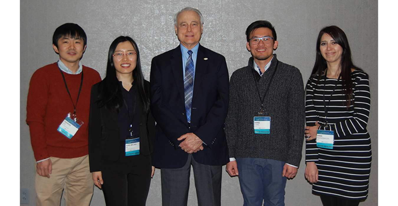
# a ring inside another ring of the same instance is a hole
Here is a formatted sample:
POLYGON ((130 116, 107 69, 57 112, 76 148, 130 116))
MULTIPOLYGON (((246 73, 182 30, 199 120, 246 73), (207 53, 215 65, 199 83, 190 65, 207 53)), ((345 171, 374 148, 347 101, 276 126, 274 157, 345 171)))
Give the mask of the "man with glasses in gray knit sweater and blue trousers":
POLYGON ((226 170, 239 175, 245 206, 284 206, 286 180, 297 174, 304 141, 302 76, 273 54, 278 41, 269 21, 250 24, 246 39, 252 57, 230 78, 226 170))

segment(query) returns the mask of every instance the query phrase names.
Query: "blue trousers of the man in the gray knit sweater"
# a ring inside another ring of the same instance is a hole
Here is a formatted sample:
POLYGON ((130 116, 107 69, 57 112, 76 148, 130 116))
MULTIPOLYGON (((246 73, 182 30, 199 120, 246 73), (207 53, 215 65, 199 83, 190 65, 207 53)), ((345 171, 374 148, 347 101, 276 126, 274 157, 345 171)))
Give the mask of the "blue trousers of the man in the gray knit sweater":
POLYGON ((285 162, 262 158, 236 158, 243 206, 285 206, 285 162))

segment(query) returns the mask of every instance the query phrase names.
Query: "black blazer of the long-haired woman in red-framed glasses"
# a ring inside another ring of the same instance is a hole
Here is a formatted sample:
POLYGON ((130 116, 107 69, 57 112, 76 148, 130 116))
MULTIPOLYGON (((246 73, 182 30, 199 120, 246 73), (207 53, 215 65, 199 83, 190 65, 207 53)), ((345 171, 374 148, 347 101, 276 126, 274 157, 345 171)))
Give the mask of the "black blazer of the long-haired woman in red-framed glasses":
MULTIPOLYGON (((101 159, 110 162, 119 160, 121 151, 119 140, 119 123, 117 112, 111 112, 105 106, 99 108, 98 86, 91 89, 90 120, 88 124, 88 154, 90 159, 90 171, 101 171, 101 159)), ((149 92, 149 82, 144 81, 145 88, 149 92)), ((139 117, 140 124, 140 154, 150 155, 154 145, 155 121, 152 115, 142 111, 139 117)))

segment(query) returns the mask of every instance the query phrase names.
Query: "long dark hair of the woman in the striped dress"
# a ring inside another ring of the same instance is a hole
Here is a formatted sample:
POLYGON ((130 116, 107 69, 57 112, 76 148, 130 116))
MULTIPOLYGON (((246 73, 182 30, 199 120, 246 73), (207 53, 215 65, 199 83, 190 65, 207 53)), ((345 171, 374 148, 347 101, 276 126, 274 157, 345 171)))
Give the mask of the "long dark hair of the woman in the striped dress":
POLYGON ((318 81, 319 81, 322 74, 328 68, 326 60, 323 58, 320 50, 321 38, 324 34, 328 34, 341 46, 341 48, 343 48, 343 53, 341 54, 341 60, 340 60, 340 68, 341 68, 340 78, 342 80, 342 85, 343 85, 342 92, 343 94, 345 94, 345 100, 348 108, 353 103, 352 102, 353 83, 351 79, 351 68, 357 69, 359 71, 362 71, 362 69, 353 64, 351 57, 351 49, 348 44, 347 36, 345 35, 344 31, 341 30, 339 27, 334 25, 329 27, 324 27, 319 32, 318 39, 316 40, 316 59, 315 59, 314 68, 312 69, 311 72, 310 79, 318 75, 318 81))

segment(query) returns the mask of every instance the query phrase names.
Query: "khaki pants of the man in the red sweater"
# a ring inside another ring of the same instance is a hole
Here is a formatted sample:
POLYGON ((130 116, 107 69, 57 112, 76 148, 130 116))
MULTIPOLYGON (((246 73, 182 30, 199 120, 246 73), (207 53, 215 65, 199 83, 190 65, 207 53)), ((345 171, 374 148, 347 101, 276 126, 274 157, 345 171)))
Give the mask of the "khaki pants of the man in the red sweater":
POLYGON ((59 206, 64 191, 66 206, 89 206, 94 183, 88 155, 62 159, 51 157, 53 170, 50 178, 35 175, 36 205, 59 206))

